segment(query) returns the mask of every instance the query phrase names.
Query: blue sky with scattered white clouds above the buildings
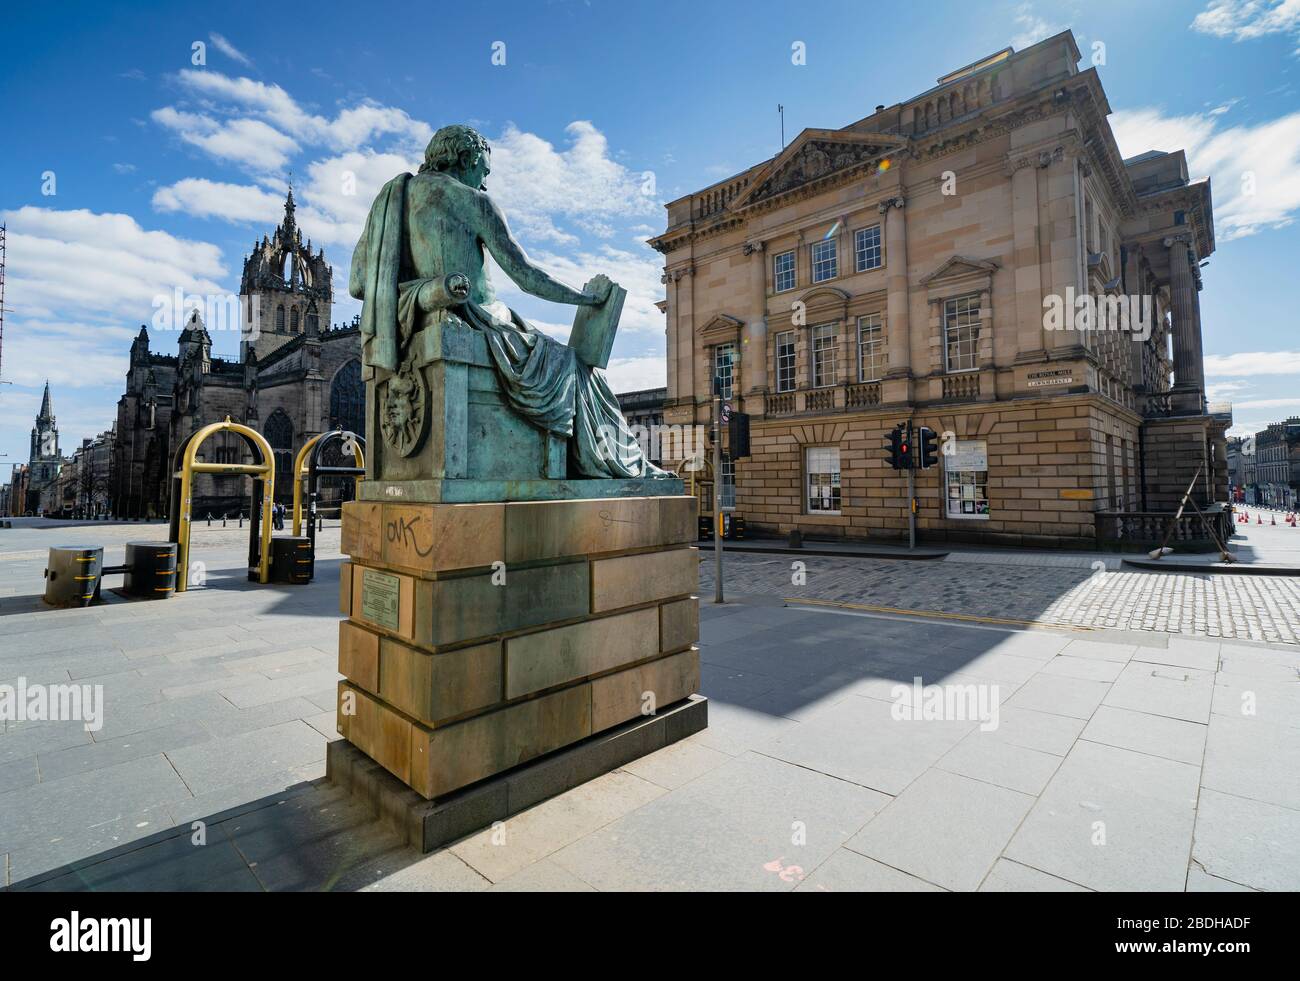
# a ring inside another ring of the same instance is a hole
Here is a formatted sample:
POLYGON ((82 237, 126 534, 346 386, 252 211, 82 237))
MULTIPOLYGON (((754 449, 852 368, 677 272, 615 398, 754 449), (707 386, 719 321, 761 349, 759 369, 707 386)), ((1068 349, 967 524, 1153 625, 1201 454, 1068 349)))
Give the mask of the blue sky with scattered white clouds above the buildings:
MULTIPOLYGON (((290 172, 304 235, 334 266, 334 320, 350 320, 370 196, 448 122, 491 140, 489 188, 536 259, 573 285, 606 272, 629 288, 616 390, 662 385, 660 257, 644 239, 664 201, 775 153, 777 103, 788 139, 844 126, 1065 27, 1086 58, 1104 44, 1122 151, 1186 147, 1214 181, 1212 398, 1234 403, 1235 431, 1300 413, 1300 0, 190 6, 6 12, 0 464, 26 460, 47 377, 65 452, 110 425, 152 299, 238 292, 290 172)), ((563 335, 567 311, 503 292, 563 335)), ((174 334, 151 334, 174 351, 174 334)), ((234 334, 214 340, 235 356, 234 334)))

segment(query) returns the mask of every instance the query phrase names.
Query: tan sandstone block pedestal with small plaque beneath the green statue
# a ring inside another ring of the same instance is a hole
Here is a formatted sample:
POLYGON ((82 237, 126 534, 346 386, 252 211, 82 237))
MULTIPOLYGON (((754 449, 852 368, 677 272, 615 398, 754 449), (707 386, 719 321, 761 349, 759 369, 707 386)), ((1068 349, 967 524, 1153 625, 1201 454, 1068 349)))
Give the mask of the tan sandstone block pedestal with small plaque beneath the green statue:
POLYGON ((680 703, 694 538, 684 495, 344 504, 338 732, 441 799, 680 703))

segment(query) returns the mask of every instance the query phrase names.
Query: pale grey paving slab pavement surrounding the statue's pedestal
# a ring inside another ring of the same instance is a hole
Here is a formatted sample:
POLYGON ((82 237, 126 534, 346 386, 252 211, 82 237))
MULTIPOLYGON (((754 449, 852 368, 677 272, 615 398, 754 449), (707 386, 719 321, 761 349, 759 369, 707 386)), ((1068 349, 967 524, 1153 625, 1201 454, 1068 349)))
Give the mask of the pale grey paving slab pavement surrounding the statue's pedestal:
MULTIPOLYGON (((32 543, 49 534, 0 538, 0 683, 103 685, 105 715, 96 732, 0 732, 9 887, 1300 886, 1295 644, 1117 630, 1087 611, 1023 629, 786 605, 757 589, 702 605, 708 729, 425 856, 322 780, 337 530, 311 586, 247 583, 244 531, 217 529, 196 531, 207 587, 83 611, 32 603, 32 543), (897 717, 914 678, 983 696, 996 725, 897 717)), ((923 578, 933 563, 905 568, 940 612, 974 602, 970 564, 948 582, 923 578)), ((1050 591, 1060 573, 1011 574, 1050 591)))

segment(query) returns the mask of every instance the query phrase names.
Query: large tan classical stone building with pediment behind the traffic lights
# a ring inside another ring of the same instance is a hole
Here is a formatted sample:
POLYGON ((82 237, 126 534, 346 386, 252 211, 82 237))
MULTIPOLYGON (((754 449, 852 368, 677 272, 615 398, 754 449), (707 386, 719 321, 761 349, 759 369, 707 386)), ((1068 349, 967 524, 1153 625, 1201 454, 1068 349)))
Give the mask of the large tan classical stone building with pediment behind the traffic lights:
POLYGON ((723 469, 751 529, 905 535, 907 420, 946 437, 916 472, 928 541, 1091 544, 1197 466, 1226 499, 1209 181, 1182 151, 1122 159, 1079 60, 1069 31, 1001 51, 668 204, 664 416, 707 425, 715 378, 751 413, 723 469))

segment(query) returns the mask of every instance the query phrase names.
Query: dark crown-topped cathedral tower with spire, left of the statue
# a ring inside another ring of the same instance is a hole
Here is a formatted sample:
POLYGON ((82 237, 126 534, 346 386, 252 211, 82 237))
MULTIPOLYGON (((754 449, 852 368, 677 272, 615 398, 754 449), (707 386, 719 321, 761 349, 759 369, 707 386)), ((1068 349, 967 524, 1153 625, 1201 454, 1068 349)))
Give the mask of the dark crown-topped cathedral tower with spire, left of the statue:
POLYGON ((261 360, 299 334, 318 334, 330 325, 333 270, 325 262, 325 249, 313 255, 311 239, 303 244, 295 209, 290 187, 283 221, 270 238, 255 242, 244 259, 239 286, 243 361, 261 360))

